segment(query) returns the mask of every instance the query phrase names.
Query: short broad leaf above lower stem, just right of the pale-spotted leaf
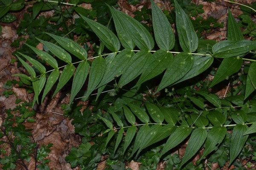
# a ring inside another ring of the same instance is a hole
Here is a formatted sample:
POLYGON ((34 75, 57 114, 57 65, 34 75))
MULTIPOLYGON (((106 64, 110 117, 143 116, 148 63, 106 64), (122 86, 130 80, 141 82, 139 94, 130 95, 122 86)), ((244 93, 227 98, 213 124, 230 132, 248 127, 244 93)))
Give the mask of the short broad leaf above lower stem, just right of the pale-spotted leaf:
POLYGON ((163 113, 164 119, 168 124, 175 126, 177 123, 176 117, 179 117, 179 111, 175 108, 160 107, 160 111, 163 113))

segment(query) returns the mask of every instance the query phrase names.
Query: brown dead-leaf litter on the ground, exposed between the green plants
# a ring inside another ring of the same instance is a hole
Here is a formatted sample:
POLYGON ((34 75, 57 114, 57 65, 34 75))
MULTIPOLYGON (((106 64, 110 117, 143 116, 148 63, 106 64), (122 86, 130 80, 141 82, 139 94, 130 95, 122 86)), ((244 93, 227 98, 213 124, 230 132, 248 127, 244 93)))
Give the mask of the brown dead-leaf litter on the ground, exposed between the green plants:
MULTIPOLYGON (((198 3, 197 0, 193 0, 195 3, 198 3)), ((155 0, 158 6, 161 8, 168 9, 168 4, 163 3, 162 0, 155 0)), ((252 3, 252 0, 240 0, 241 3, 252 3)), ((146 0, 143 0, 141 4, 137 6, 129 5, 125 0, 119 0, 118 4, 121 7, 122 11, 126 14, 134 16, 132 14, 134 11, 140 10, 146 3, 146 0)), ((211 33, 203 32, 207 39, 212 40, 224 40, 226 39, 226 23, 227 23, 227 10, 228 7, 231 8, 232 14, 234 17, 238 17, 242 12, 239 10, 239 6, 224 2, 223 0, 217 0, 216 3, 208 3, 199 1, 199 4, 204 4, 205 13, 202 14, 203 17, 207 18, 209 16, 218 18, 218 22, 224 22, 224 28, 218 30, 212 30, 211 33)), ((18 38, 16 34, 16 29, 20 21, 20 16, 23 16, 23 11, 16 13, 18 20, 11 24, 2 25, 2 33, 0 37, 0 125, 2 125, 3 120, 5 119, 5 109, 15 108, 15 100, 22 99, 23 101, 31 102, 33 100, 33 94, 28 94, 25 88, 19 88, 17 85, 12 88, 12 91, 15 92, 15 95, 10 95, 8 98, 3 96, 3 92, 6 91, 4 84, 7 80, 16 79, 13 77, 13 74, 26 73, 23 67, 17 68, 17 62, 12 62, 15 57, 12 55, 12 52, 16 48, 11 47, 11 43, 18 38)), ((1 23, 2 24, 2 23, 1 23)), ((22 42, 21 42, 22 43, 22 42)), ((226 89, 218 92, 219 96, 224 96, 226 89)), ((58 93, 54 99, 46 99, 45 103, 42 106, 35 107, 37 112, 35 123, 25 123, 25 126, 28 129, 33 129, 32 134, 35 141, 39 145, 53 143, 51 148, 52 152, 49 154, 49 159, 51 162, 49 166, 54 170, 70 170, 70 164, 66 163, 65 156, 67 156, 71 146, 78 146, 81 142, 81 139, 78 135, 74 133, 74 127, 71 125, 71 121, 63 116, 63 110, 61 109, 62 103, 68 103, 69 97, 65 94, 58 93), (47 104, 46 104, 47 102, 47 104)), ((87 102, 81 103, 86 107, 87 102)), ((185 146, 180 148, 180 154, 184 153, 185 146)), ((139 169, 138 162, 131 161, 129 167, 133 170, 139 169)), ((29 170, 33 169, 34 161, 31 161, 28 165, 29 170)), ((105 167, 105 162, 98 164, 98 170, 103 170, 105 167)), ((164 167, 163 162, 159 164, 159 169, 164 167)), ((21 167, 17 166, 17 169, 21 167)), ((218 168, 218 164, 213 165, 212 170, 218 168)), ((256 167, 255 167, 256 168, 256 167)), ((79 169, 79 168, 75 168, 79 169)), ((223 169, 227 169, 227 166, 223 169)), ((233 167, 230 167, 233 169, 233 167)))

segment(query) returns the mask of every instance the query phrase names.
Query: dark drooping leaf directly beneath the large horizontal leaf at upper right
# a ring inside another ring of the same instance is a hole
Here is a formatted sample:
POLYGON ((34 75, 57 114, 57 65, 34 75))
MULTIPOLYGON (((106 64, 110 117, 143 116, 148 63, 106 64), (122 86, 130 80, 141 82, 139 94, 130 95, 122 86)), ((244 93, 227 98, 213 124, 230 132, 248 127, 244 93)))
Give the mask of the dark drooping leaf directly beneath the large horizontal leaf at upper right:
POLYGON ((222 82, 224 79, 227 79, 227 77, 230 77, 232 74, 239 71, 242 64, 243 59, 240 57, 224 58, 209 88, 212 88, 214 85, 222 82))

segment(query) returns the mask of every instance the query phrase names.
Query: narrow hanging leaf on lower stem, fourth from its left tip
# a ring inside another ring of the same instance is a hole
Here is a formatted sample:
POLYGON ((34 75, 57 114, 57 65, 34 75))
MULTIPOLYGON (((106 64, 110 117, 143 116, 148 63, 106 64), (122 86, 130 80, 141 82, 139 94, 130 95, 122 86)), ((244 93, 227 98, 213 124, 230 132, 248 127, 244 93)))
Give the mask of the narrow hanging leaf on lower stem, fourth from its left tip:
MULTIPOLYGON (((149 131, 149 126, 148 124, 143 125, 142 127, 140 127, 140 130, 138 130, 136 139, 134 141, 134 147, 131 153, 131 156, 134 155, 134 153, 145 143, 147 142, 145 140, 145 137, 149 135, 148 133, 149 131)), ((131 157, 130 156, 130 157, 131 157)))

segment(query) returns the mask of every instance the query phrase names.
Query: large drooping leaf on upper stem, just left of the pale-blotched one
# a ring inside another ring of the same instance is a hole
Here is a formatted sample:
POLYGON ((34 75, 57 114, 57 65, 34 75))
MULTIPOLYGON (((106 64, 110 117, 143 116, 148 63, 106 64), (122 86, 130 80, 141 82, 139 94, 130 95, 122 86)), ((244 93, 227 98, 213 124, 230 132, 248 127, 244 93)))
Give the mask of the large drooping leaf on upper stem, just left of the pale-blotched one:
POLYGON ((145 63, 145 70, 134 87, 161 74, 172 62, 173 55, 167 51, 158 50, 151 55, 145 63))

